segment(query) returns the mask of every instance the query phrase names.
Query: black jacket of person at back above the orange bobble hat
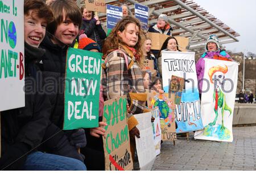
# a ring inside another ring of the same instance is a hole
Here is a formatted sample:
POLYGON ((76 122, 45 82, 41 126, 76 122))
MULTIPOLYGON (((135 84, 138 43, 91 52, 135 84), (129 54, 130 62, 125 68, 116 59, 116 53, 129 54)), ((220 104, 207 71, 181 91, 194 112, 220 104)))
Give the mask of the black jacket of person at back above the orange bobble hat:
POLYGON ((93 39, 102 49, 103 41, 106 39, 106 32, 103 30, 101 24, 96 24, 96 19, 82 20, 82 30, 88 38, 93 39))

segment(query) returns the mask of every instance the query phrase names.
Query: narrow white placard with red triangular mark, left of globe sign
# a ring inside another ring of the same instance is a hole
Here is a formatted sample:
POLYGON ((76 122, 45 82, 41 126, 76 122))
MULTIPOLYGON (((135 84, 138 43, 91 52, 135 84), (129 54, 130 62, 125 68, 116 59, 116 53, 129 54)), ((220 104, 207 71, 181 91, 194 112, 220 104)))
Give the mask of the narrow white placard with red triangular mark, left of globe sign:
POLYGON ((155 142, 155 154, 159 155, 161 150, 161 127, 160 127, 160 116, 159 116, 159 109, 156 107, 155 109, 151 110, 152 117, 155 118, 154 122, 152 123, 153 129, 153 137, 155 142))

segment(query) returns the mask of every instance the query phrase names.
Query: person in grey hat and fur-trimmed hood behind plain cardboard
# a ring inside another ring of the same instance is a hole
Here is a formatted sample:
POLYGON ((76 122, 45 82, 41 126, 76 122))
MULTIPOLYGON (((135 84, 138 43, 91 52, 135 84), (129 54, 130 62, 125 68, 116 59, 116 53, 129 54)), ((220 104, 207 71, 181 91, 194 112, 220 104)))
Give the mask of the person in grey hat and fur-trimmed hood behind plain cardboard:
POLYGON ((148 28, 148 32, 154 32, 159 34, 165 34, 165 35, 172 35, 171 33, 172 27, 168 23, 168 16, 166 14, 160 14, 158 16, 158 22, 152 24, 148 28))

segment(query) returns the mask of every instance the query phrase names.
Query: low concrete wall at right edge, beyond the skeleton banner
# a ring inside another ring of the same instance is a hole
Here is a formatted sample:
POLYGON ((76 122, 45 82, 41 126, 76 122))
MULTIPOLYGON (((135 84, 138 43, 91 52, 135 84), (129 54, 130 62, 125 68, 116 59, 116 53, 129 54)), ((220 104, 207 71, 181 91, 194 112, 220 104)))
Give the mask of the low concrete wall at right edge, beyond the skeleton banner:
POLYGON ((233 125, 256 124, 256 104, 235 104, 233 125))

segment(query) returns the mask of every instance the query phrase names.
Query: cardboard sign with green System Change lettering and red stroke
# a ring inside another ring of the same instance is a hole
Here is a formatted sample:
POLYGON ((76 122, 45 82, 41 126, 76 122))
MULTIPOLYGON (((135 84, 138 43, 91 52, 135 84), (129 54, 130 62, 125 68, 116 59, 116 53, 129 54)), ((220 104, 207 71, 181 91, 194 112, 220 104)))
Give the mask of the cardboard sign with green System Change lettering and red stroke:
POLYGON ((104 102, 103 121, 105 137, 102 137, 105 154, 105 170, 127 171, 133 169, 130 137, 127 125, 126 96, 104 102))

